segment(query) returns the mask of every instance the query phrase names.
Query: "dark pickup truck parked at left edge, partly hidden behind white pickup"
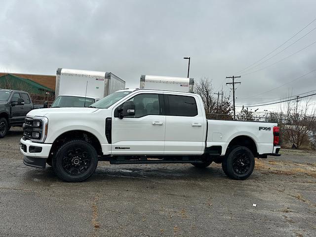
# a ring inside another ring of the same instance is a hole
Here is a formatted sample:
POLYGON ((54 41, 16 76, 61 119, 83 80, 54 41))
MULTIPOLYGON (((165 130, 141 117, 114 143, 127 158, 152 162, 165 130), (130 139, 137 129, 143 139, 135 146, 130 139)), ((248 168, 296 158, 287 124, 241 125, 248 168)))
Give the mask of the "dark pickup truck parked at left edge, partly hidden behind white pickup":
POLYGON ((31 110, 47 107, 33 105, 28 92, 0 89, 0 138, 3 138, 11 126, 22 126, 31 110))

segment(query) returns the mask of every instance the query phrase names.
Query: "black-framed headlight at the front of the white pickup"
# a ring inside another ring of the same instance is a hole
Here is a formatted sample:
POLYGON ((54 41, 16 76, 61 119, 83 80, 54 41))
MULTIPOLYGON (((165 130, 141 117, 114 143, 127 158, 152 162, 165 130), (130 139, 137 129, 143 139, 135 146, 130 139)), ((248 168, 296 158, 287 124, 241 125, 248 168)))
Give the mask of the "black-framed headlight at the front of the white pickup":
POLYGON ((46 117, 34 117, 25 118, 23 124, 23 135, 25 138, 34 142, 44 142, 47 137, 48 130, 48 118, 46 117))

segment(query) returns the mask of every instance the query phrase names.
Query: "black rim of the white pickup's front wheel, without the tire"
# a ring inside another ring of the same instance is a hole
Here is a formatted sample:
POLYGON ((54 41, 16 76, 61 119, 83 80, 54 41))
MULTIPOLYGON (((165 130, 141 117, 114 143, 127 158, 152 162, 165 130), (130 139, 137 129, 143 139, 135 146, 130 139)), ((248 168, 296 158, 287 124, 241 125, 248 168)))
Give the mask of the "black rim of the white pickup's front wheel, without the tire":
POLYGON ((62 167, 66 173, 77 176, 85 173, 91 164, 89 152, 84 148, 71 148, 62 160, 62 167))

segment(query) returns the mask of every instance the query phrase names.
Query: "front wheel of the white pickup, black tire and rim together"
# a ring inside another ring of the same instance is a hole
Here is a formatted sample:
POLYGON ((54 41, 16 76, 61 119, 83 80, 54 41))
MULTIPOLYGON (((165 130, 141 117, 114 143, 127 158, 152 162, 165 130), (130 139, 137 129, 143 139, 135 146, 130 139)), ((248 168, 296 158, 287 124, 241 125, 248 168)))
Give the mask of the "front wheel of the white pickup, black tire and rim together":
POLYGON ((56 175, 66 182, 81 182, 89 178, 98 165, 94 147, 82 140, 72 140, 62 145, 52 158, 56 175))

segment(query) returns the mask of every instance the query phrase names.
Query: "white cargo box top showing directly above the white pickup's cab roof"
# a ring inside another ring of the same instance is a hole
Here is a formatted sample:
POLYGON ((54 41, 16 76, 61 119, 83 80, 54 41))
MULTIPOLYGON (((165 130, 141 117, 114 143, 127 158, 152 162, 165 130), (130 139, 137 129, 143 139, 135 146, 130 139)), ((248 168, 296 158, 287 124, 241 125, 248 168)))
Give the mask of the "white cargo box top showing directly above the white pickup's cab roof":
POLYGON ((174 90, 193 92, 194 78, 177 78, 142 75, 140 89, 174 90))

